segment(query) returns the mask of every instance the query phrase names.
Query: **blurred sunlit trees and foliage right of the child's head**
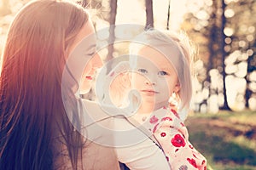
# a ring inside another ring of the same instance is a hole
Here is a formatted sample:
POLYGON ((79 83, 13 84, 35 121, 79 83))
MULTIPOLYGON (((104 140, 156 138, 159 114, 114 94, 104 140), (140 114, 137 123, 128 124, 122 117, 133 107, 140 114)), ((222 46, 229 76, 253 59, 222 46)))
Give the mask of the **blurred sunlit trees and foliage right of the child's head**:
POLYGON ((197 99, 195 111, 201 111, 201 105, 211 111, 208 104, 212 96, 216 96, 218 108, 228 100, 233 110, 249 106, 253 109, 256 78, 251 75, 256 73, 256 18, 252 16, 256 15, 256 1, 191 0, 188 10, 182 29, 197 44, 198 58, 203 63, 195 68, 201 83, 196 93, 204 96, 197 99), (224 99, 226 92, 228 99, 224 99))

